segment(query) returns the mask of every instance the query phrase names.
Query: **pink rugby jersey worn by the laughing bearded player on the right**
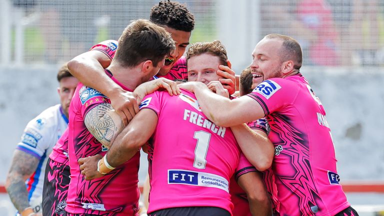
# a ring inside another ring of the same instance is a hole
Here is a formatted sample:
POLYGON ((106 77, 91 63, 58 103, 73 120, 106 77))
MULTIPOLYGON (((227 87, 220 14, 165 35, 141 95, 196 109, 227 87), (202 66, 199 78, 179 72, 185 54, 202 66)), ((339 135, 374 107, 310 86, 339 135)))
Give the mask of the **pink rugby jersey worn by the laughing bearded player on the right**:
POLYGON ((264 80, 247 96, 261 105, 271 128, 280 214, 334 215, 348 207, 325 111, 305 78, 264 80))

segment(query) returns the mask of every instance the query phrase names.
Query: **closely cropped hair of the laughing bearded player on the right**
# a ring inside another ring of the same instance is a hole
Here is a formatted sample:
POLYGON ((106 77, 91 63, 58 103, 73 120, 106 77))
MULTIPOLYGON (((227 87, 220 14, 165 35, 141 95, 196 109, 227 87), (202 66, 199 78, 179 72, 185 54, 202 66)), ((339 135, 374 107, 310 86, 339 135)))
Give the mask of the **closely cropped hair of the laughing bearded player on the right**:
POLYGON ((295 69, 300 69, 302 64, 302 50, 300 44, 293 37, 283 34, 268 34, 264 38, 279 39, 282 41, 280 61, 292 60, 295 69))

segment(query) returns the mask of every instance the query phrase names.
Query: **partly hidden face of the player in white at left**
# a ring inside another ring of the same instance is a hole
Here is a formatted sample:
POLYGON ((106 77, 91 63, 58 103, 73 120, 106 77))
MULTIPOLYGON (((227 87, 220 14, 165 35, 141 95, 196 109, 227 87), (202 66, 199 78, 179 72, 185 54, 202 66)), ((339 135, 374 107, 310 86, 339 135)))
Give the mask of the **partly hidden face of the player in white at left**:
POLYGON ((73 76, 64 77, 60 80, 59 84, 60 87, 57 88, 57 92, 60 96, 62 110, 66 117, 68 117, 69 103, 78 84, 78 80, 73 76))

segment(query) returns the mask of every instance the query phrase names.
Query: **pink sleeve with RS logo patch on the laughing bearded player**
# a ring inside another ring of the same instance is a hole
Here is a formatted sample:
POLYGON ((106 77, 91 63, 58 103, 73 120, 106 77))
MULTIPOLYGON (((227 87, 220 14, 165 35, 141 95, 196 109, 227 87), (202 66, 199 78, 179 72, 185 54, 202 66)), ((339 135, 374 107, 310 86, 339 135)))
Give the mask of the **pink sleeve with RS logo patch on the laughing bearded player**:
POLYGON ((265 116, 291 104, 299 91, 299 86, 284 78, 271 78, 258 84, 247 96, 256 100, 265 116))

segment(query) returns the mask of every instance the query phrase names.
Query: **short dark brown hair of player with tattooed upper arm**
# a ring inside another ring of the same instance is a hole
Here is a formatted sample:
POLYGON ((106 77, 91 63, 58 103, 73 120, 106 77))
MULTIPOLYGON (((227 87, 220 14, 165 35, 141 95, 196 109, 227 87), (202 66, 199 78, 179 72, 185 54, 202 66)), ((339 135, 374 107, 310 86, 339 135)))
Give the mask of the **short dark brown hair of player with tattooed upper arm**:
POLYGON ((163 27, 146 19, 137 19, 122 32, 113 59, 121 66, 135 66, 144 60, 151 60, 157 66, 174 48, 170 33, 163 27))

